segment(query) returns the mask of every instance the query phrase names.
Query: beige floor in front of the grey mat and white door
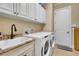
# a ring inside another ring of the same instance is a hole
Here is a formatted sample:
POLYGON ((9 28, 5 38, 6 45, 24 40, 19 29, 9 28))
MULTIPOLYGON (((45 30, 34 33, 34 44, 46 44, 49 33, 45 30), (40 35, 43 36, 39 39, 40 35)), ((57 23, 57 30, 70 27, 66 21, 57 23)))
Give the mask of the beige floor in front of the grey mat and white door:
POLYGON ((65 50, 55 47, 53 56, 79 56, 79 52, 78 51, 72 51, 72 52, 65 51, 65 50))

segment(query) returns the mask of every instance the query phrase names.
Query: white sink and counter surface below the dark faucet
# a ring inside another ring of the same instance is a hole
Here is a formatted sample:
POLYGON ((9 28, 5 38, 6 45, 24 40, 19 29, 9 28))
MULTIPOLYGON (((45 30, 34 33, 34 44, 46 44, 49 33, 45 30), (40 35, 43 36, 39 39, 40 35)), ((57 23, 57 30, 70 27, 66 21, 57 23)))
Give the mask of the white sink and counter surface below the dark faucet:
POLYGON ((29 40, 32 40, 32 38, 16 37, 14 39, 3 40, 3 41, 0 41, 0 49, 4 50, 10 47, 14 47, 16 45, 23 44, 29 40))

